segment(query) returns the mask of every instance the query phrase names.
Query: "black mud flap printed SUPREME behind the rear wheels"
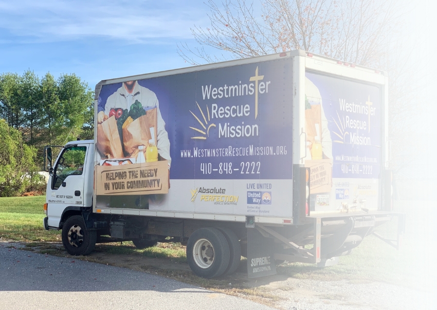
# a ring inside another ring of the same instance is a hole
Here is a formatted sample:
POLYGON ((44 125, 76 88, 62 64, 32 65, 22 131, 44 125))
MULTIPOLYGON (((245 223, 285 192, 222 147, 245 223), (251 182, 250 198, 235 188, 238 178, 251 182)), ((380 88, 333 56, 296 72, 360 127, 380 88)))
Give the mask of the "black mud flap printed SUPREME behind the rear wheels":
POLYGON ((254 228, 247 229, 247 277, 276 275, 274 241, 254 228))

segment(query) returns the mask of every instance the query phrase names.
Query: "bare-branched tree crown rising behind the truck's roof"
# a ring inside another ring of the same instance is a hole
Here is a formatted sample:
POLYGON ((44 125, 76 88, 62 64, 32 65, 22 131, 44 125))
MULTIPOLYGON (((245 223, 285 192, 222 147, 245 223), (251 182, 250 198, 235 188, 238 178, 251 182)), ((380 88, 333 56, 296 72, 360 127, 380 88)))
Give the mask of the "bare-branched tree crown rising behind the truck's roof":
POLYGON ((263 0, 257 14, 246 0, 207 5, 211 26, 191 29, 199 46, 178 46, 190 64, 302 49, 371 66, 384 56, 404 7, 394 0, 263 0))

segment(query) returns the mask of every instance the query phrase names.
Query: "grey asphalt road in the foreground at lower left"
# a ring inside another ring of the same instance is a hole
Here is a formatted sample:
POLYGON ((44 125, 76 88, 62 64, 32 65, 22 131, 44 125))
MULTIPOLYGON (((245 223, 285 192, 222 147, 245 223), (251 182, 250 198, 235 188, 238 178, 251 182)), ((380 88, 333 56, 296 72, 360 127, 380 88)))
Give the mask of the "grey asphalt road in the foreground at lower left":
POLYGON ((134 270, 0 243, 0 309, 271 309, 134 270))

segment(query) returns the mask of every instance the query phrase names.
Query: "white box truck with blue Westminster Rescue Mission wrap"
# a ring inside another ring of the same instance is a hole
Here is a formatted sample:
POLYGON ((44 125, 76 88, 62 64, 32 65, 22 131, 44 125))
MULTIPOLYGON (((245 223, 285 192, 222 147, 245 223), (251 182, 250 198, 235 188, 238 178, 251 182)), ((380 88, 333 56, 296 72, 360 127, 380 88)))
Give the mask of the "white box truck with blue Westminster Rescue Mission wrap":
POLYGON ((384 72, 301 50, 103 80, 94 140, 45 149, 44 227, 71 255, 180 242, 205 278, 333 264, 403 231, 387 100, 384 72))

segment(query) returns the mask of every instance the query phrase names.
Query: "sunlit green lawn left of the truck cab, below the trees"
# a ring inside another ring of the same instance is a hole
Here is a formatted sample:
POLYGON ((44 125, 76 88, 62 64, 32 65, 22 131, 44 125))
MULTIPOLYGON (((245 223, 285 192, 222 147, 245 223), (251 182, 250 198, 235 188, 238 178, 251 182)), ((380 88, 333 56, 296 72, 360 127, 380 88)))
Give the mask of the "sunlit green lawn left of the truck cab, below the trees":
POLYGON ((60 231, 44 229, 45 199, 45 196, 0 198, 0 238, 60 241, 60 231))

